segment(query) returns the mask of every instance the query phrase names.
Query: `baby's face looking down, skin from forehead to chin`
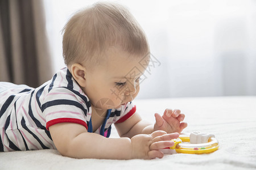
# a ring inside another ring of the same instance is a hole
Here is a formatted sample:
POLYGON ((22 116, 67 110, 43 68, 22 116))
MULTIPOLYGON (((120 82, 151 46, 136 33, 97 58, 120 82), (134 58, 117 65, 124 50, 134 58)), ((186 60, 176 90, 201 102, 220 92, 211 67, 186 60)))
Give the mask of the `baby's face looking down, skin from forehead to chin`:
POLYGON ((150 55, 131 56, 117 49, 105 53, 108 61, 86 73, 83 88, 90 103, 96 109, 119 108, 133 100, 139 92, 139 80, 150 55))

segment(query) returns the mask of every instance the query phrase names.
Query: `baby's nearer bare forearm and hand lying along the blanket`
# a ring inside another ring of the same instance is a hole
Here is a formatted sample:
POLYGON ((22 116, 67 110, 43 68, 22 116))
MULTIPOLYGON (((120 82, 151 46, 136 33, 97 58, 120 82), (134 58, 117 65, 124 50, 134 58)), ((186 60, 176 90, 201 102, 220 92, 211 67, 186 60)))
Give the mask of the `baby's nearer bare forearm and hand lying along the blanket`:
POLYGON ((150 135, 135 135, 133 138, 105 138, 88 133, 84 126, 59 123, 49 127, 52 140, 63 156, 96 159, 154 159, 162 158, 161 148, 171 147, 179 134, 155 131, 150 135))

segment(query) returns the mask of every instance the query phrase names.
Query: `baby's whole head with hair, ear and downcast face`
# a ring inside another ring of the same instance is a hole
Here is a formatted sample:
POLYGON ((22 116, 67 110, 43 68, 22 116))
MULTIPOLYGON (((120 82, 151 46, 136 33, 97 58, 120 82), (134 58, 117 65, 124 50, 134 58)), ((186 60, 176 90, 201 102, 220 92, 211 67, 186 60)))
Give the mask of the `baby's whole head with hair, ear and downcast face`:
POLYGON ((150 49, 125 7, 96 3, 73 15, 63 31, 64 61, 92 106, 108 100, 97 108, 118 108, 137 96, 150 49))

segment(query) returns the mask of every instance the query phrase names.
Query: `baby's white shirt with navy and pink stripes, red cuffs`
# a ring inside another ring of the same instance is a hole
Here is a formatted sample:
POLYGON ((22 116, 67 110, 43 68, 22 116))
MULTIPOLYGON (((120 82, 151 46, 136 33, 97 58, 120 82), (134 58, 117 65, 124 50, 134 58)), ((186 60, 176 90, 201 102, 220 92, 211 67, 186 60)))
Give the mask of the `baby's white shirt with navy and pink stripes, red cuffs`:
MULTIPOLYGON (((109 109, 104 123, 94 133, 109 137, 111 125, 135 113, 132 102, 109 109)), ((49 126, 72 122, 92 132, 92 108, 65 67, 38 88, 0 82, 0 151, 56 148, 49 126)))

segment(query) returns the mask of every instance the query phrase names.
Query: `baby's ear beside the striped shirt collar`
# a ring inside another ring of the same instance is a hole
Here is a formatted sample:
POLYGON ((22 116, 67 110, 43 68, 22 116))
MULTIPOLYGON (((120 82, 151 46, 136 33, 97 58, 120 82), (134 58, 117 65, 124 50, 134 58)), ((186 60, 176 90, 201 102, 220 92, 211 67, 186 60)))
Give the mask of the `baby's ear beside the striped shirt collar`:
POLYGON ((81 87, 85 87, 86 69, 84 66, 80 65, 79 63, 73 64, 71 66, 71 74, 81 87))

